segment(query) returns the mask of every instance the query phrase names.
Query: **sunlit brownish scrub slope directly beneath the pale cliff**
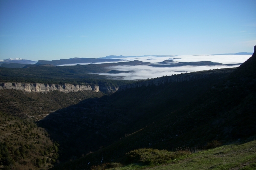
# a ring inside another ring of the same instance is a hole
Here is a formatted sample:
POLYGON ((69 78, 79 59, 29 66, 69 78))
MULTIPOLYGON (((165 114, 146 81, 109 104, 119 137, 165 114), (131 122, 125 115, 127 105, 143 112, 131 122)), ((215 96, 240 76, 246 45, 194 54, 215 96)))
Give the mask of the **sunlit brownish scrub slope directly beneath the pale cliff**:
POLYGON ((40 120, 58 109, 75 105, 84 99, 104 95, 102 92, 93 91, 26 93, 14 89, 0 90, 0 111, 40 120))

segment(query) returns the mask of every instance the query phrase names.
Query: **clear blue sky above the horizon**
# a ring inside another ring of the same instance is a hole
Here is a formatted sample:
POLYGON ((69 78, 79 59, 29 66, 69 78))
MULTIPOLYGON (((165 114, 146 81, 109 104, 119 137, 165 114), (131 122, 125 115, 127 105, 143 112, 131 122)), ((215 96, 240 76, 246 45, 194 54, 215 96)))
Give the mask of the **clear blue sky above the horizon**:
POLYGON ((256 0, 0 0, 0 59, 253 52, 256 0))

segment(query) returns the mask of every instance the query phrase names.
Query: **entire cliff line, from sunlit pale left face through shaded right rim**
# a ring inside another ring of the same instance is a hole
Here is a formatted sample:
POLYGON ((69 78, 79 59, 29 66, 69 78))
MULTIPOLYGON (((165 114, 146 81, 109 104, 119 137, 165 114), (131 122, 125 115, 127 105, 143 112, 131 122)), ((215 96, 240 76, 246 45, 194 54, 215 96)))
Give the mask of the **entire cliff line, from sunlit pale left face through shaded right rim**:
POLYGON ((118 90, 125 90, 128 88, 136 88, 142 86, 151 85, 163 85, 171 82, 184 82, 197 79, 203 79, 211 75, 216 74, 229 74, 234 71, 234 68, 218 69, 210 71, 199 71, 193 73, 185 73, 172 76, 163 76, 154 79, 141 80, 136 83, 120 86, 99 86, 99 85, 77 85, 77 84, 43 84, 43 83, 22 83, 22 82, 0 82, 0 90, 15 89, 26 92, 49 92, 49 91, 61 91, 61 92, 76 92, 76 91, 95 91, 95 92, 116 92, 118 90))

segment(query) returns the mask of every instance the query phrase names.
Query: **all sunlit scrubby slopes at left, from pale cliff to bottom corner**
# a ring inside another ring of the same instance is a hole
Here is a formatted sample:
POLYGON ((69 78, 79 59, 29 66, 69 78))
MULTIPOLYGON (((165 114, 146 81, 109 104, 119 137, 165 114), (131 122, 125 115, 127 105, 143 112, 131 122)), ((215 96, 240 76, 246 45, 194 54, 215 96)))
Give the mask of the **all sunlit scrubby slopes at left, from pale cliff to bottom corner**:
POLYGON ((47 130, 38 127, 35 121, 81 100, 104 95, 93 91, 26 93, 13 89, 1 90, 0 168, 48 169, 58 163, 59 144, 52 142, 47 130))

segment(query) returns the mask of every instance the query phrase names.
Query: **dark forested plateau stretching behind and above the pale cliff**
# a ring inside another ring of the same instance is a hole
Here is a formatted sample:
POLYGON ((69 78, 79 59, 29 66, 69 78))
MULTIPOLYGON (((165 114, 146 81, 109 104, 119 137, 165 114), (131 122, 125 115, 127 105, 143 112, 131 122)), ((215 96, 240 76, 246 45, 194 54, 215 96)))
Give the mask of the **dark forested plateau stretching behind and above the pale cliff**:
MULTIPOLYGON (((122 81, 105 80, 108 77, 98 75, 98 73, 106 73, 111 71, 109 67, 116 65, 144 65, 141 61, 105 63, 105 64, 89 64, 74 65, 60 67, 30 67, 30 68, 2 68, 0 67, 0 82, 42 82, 55 83, 93 83, 93 82, 113 82, 120 83, 122 81), (100 79, 96 80, 96 79, 100 79), (104 79, 104 80, 102 80, 104 79)), ((113 77, 111 77, 113 79, 113 77)), ((126 81, 127 83, 128 81, 126 81)), ((59 84, 58 83, 58 84, 59 84)))

